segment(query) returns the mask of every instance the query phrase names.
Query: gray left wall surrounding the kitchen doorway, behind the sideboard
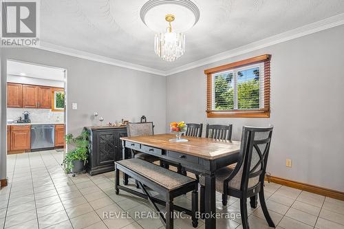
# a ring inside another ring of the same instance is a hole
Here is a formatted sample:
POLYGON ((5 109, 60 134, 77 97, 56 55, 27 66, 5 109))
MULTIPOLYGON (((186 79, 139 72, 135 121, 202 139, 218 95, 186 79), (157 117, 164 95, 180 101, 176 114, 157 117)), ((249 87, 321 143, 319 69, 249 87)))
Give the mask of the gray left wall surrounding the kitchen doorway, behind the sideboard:
MULTIPOLYGON (((122 118, 140 121, 142 115, 155 124, 155 133, 166 127, 166 78, 81 58, 32 48, 2 48, 1 53, 1 170, 6 172, 6 59, 67 69, 67 127, 77 134, 92 120, 94 111, 107 122, 122 118), (72 102, 78 109, 72 110, 72 102)), ((98 118, 99 118, 98 116, 98 118)))

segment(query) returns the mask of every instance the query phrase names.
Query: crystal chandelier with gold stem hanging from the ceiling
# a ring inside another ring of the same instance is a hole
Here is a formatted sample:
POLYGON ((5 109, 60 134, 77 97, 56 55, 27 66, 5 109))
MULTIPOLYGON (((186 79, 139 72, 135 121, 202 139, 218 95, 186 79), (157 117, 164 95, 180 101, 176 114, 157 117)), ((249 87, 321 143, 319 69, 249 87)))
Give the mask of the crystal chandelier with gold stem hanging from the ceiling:
POLYGON ((185 35, 182 33, 172 32, 171 22, 174 21, 173 14, 167 14, 165 20, 169 23, 166 32, 155 34, 155 54, 160 56, 164 61, 175 61, 185 52, 185 35))

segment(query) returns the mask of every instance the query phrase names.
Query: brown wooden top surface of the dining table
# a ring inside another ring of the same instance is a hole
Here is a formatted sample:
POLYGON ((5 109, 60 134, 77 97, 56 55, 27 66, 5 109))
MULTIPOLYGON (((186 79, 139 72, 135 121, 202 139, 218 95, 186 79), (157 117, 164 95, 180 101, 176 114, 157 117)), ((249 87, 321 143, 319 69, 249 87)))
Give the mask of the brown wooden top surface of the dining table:
POLYGON ((120 139, 159 149, 202 157, 208 160, 239 153, 240 150, 240 142, 237 141, 182 136, 182 138, 189 140, 189 142, 169 142, 171 138, 175 138, 175 135, 164 133, 138 137, 122 137, 120 139))

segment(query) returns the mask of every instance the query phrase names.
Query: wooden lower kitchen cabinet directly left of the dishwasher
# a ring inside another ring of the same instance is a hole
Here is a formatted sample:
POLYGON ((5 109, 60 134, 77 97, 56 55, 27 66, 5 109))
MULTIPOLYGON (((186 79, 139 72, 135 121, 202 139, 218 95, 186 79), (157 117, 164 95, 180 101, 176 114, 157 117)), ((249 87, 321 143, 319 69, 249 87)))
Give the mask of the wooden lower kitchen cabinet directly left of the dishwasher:
POLYGON ((30 149, 30 130, 30 125, 11 126, 11 151, 30 149))

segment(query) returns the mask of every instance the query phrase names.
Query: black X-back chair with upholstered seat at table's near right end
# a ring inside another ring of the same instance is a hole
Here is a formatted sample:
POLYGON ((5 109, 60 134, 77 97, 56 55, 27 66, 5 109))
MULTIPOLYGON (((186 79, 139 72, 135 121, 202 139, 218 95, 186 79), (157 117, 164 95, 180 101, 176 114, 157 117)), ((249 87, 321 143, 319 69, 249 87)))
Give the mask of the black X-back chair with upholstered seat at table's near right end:
MULTIPOLYGON (((251 206, 257 207, 257 194, 264 217, 270 227, 275 228, 264 197, 264 177, 270 150, 273 127, 243 127, 239 160, 235 168, 226 166, 215 173, 215 188, 222 193, 222 204, 226 206, 228 195, 240 199, 241 221, 244 229, 248 229, 247 198, 251 206)), ((201 203, 204 212, 204 177, 200 175, 201 203)))

